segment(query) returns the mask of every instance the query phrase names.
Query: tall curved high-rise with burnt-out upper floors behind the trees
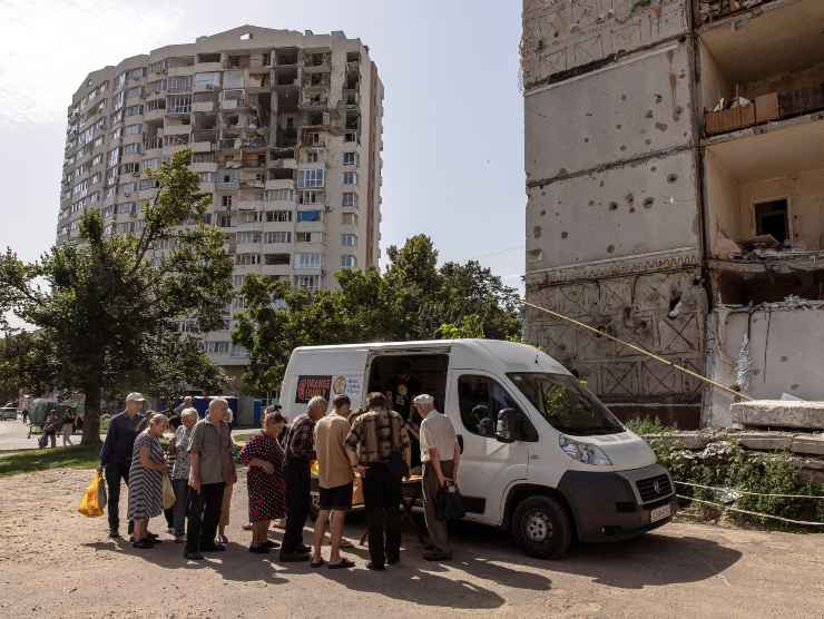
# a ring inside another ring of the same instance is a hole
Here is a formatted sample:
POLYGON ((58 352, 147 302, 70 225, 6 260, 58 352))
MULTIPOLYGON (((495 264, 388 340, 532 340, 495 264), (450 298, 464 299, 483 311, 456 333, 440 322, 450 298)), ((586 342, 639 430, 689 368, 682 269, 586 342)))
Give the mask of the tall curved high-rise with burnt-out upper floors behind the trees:
MULTIPOLYGON (((68 109, 58 243, 89 208, 109 234, 139 234, 156 193, 143 170, 190 148, 236 288, 249 273, 332 287, 342 268, 377 265, 382 101, 369 48, 340 31, 244 26, 92 71, 68 109)), ((238 308, 205 337, 224 366, 247 363, 238 308)))

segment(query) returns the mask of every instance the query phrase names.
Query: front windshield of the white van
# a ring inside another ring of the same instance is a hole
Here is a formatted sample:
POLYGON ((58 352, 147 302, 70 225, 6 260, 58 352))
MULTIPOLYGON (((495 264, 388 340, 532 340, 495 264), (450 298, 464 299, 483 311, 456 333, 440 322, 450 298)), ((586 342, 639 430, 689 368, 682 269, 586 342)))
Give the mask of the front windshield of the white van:
POLYGON ((625 432, 615 415, 573 376, 540 372, 507 375, 559 432, 573 436, 625 432))

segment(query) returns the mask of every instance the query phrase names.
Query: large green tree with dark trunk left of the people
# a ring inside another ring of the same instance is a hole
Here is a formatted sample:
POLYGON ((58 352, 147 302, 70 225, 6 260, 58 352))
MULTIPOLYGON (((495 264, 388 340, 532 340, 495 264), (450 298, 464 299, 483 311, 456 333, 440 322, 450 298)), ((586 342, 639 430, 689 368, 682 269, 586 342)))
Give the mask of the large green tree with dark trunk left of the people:
POLYGON ((24 386, 82 393, 84 444, 99 442, 104 391, 167 394, 173 384, 220 380, 195 337, 178 333, 183 318, 202 332, 219 327, 232 291, 232 261, 223 234, 203 223, 210 196, 190 159, 179 151, 146 174, 158 191, 143 204, 138 235, 105 230, 90 210, 79 242, 31 264, 11 249, 0 256, 0 311, 37 328, 24 386))

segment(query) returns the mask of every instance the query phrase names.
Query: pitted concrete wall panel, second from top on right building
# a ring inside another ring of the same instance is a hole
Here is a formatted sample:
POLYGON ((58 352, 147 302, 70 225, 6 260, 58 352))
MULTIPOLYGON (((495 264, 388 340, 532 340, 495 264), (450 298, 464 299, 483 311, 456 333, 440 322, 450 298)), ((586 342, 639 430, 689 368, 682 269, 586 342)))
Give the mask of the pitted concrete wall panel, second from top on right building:
POLYGON ((527 181, 689 144, 690 101, 688 46, 677 42, 527 92, 527 181))

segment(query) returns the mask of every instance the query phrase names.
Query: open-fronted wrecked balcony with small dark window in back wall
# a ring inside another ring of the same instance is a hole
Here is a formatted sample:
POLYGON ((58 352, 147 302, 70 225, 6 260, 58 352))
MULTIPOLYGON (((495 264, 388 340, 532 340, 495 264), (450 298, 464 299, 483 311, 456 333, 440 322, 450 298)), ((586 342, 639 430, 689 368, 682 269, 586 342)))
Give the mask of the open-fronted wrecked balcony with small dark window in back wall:
POLYGON ((709 145, 704 166, 719 301, 821 298, 824 121, 709 145))

